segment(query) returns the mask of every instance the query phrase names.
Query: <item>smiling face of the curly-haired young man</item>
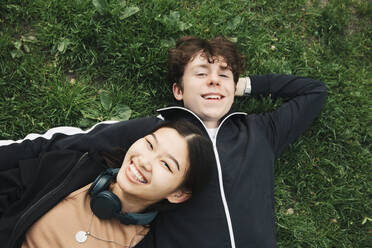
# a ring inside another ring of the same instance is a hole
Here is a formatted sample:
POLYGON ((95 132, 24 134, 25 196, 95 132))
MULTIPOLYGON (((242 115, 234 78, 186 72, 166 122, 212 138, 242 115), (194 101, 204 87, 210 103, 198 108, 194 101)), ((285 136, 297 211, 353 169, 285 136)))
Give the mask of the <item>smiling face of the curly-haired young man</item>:
POLYGON ((214 63, 197 54, 184 70, 182 89, 173 84, 173 95, 197 114, 208 128, 218 126, 234 102, 235 83, 232 71, 222 58, 214 63))

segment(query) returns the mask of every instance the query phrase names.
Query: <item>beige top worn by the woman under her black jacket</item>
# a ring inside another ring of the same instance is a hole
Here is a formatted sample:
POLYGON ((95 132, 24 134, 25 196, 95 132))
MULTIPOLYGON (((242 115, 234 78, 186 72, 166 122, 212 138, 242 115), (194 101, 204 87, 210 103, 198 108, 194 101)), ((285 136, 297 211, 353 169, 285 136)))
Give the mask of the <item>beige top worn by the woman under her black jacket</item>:
POLYGON ((26 233, 22 248, 118 248, 133 247, 141 241, 149 228, 123 225, 115 219, 100 220, 92 213, 89 187, 90 184, 72 192, 33 224, 26 233), (79 243, 76 237, 79 231, 91 235, 83 235, 86 240, 79 243))

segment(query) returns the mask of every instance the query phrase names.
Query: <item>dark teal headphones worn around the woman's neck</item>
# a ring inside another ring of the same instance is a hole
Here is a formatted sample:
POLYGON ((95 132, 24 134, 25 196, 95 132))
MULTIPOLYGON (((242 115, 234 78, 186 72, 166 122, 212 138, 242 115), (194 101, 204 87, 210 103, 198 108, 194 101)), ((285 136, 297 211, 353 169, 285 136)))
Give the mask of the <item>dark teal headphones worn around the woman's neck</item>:
POLYGON ((109 191, 112 181, 116 180, 119 168, 110 168, 102 172, 89 188, 91 196, 90 208, 100 219, 117 219, 125 225, 147 225, 157 215, 157 212, 122 213, 121 201, 117 195, 109 191))

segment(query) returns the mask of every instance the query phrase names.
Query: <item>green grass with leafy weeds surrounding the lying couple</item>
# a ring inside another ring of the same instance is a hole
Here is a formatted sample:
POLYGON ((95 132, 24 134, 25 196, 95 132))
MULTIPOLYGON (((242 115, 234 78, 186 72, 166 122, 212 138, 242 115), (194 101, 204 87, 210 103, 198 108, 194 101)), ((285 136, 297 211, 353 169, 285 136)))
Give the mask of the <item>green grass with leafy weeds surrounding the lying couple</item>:
MULTIPOLYGON (((152 115, 172 101, 168 48, 182 35, 223 35, 247 55, 247 75, 328 88, 320 117, 277 161, 279 247, 370 247, 371 16, 362 0, 5 0, 0 138, 124 118, 123 104, 131 118, 152 115)), ((248 112, 277 104, 236 102, 248 112)))

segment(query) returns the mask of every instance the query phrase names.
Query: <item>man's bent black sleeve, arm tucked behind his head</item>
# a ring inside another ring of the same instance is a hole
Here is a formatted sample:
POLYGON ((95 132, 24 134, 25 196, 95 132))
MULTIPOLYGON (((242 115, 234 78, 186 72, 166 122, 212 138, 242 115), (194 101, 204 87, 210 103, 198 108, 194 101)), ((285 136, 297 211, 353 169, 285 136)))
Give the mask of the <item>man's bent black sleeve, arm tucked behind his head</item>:
POLYGON ((292 75, 251 76, 252 96, 283 98, 273 112, 258 115, 276 156, 305 131, 325 103, 326 87, 320 81, 292 75))

